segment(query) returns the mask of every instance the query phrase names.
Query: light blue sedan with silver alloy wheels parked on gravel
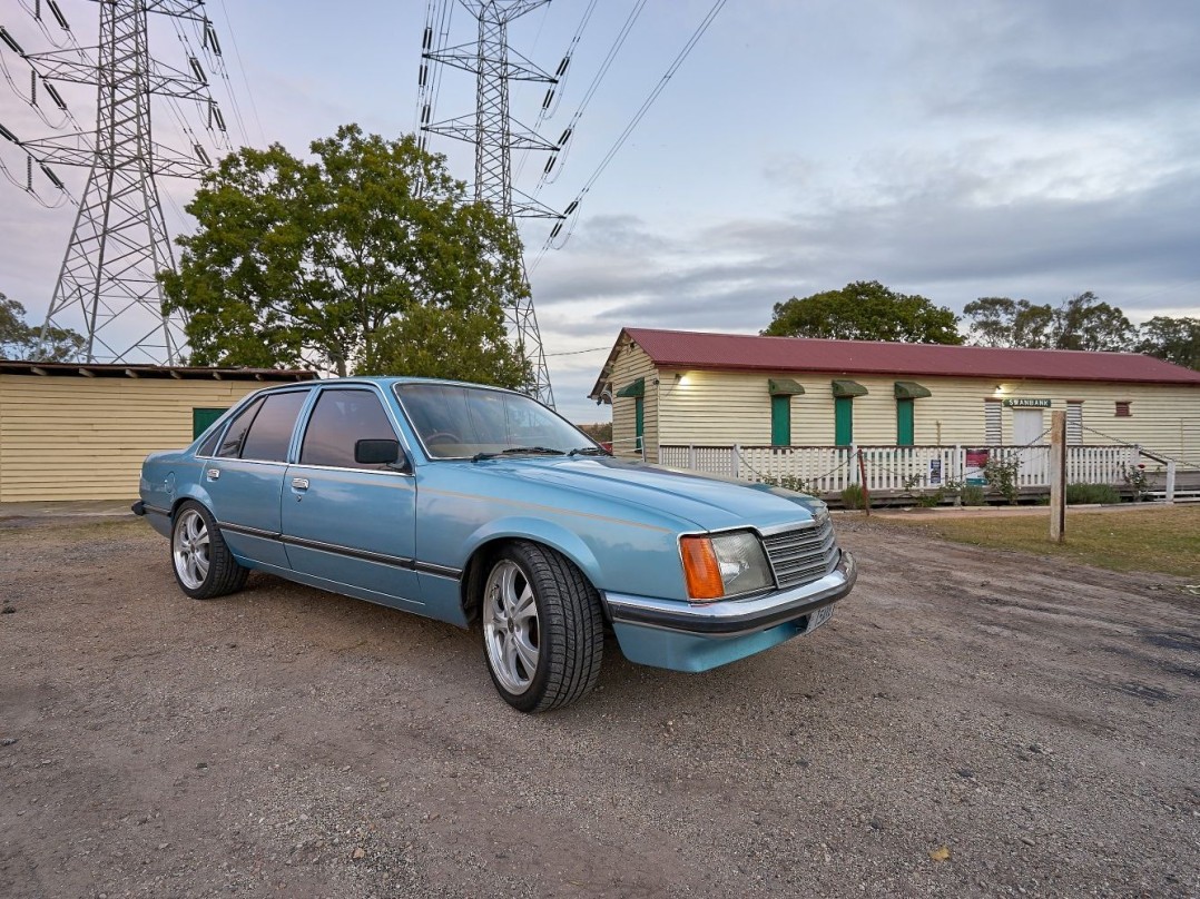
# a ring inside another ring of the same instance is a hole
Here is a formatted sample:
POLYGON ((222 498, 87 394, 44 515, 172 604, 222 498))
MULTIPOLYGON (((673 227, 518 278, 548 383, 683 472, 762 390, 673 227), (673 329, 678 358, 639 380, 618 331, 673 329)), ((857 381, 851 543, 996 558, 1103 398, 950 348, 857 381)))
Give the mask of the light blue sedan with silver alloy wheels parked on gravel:
POLYGON ((617 460, 526 396, 454 381, 259 391, 148 457, 140 495, 188 596, 253 568, 480 621, 523 712, 592 689, 606 626, 632 662, 703 671, 811 633, 856 579, 818 500, 617 460))

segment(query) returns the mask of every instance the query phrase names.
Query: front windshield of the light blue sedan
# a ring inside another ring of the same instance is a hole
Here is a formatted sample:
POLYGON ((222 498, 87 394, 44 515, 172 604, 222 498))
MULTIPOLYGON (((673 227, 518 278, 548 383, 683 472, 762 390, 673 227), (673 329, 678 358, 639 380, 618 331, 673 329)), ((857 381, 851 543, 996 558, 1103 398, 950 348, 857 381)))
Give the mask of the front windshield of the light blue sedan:
POLYGON ((450 384, 397 384, 396 396, 434 459, 599 450, 575 426, 520 393, 450 384))

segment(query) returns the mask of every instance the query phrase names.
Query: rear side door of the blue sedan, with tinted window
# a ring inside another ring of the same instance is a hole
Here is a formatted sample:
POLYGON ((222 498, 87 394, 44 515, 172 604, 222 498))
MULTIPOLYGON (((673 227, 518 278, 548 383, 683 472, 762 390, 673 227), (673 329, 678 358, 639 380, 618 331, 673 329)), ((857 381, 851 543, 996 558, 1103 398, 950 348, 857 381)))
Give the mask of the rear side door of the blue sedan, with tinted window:
POLYGON ((288 447, 308 390, 268 393, 229 423, 202 481, 214 517, 235 556, 287 568, 280 503, 288 447))

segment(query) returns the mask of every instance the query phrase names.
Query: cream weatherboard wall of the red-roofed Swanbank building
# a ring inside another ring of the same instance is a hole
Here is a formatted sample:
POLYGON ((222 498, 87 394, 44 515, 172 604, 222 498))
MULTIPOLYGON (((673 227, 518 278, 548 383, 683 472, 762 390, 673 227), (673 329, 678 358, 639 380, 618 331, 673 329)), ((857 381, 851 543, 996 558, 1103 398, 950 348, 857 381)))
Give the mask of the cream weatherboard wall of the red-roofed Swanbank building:
MULTIPOLYGON (((792 444, 830 446, 834 435, 834 378, 857 381, 866 396, 853 403, 853 440, 858 445, 894 445, 896 434, 895 381, 917 381, 931 393, 913 403, 913 442, 984 445, 989 403, 1001 408, 1001 442, 1014 444, 1015 409, 1003 400, 1050 400, 1040 409, 1044 427, 1050 412, 1080 404, 1084 444, 1129 442, 1146 450, 1200 464, 1200 386, 1092 381, 1003 381, 979 378, 926 378, 920 375, 818 375, 794 370, 715 372, 656 369, 649 356, 628 345, 618 355, 612 374, 613 393, 643 378, 646 382, 647 455, 656 459, 659 444, 769 446, 770 379, 799 382, 804 393, 791 399, 792 444), (1117 415, 1127 403, 1129 416, 1117 415)), ((613 439, 618 448, 631 447, 634 403, 614 397, 613 439)))

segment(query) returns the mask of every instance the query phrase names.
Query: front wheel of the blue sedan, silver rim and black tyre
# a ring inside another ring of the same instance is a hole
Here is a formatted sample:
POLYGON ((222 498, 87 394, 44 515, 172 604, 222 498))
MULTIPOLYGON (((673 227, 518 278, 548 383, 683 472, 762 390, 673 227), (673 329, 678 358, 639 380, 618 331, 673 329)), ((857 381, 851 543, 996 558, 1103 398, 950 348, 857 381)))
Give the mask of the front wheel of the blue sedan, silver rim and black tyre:
POLYGON ((505 545, 490 562, 481 613, 487 672, 514 708, 562 708, 595 686, 604 654, 600 596, 564 556, 536 543, 505 545))

